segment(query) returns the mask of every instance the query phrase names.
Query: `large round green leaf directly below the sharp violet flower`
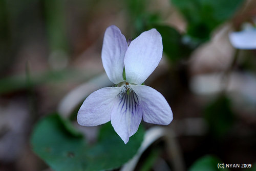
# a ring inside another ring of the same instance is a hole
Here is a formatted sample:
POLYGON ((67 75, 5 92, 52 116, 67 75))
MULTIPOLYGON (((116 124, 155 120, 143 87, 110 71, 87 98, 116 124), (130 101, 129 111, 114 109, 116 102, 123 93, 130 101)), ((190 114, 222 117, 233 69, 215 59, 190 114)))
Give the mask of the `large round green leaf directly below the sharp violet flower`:
POLYGON ((91 146, 68 125, 59 115, 49 115, 39 121, 31 137, 33 151, 56 171, 118 168, 136 154, 143 140, 144 131, 139 128, 124 144, 107 123, 100 129, 98 143, 91 146))

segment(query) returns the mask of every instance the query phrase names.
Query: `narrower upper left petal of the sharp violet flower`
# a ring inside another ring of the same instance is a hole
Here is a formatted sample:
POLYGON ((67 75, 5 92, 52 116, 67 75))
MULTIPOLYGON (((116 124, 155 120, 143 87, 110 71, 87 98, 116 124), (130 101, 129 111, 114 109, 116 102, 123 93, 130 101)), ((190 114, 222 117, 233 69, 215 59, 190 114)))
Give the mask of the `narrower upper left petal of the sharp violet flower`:
POLYGON ((123 58, 126 50, 126 39, 118 27, 112 25, 106 28, 101 59, 106 74, 115 84, 123 81, 123 58))

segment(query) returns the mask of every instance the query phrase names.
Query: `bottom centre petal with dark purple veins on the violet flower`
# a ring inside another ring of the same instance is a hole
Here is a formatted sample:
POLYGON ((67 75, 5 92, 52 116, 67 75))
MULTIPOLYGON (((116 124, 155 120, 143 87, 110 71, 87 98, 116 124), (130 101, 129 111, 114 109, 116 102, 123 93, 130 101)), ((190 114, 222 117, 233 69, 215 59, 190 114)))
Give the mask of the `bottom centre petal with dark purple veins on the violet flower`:
POLYGON ((116 98, 111 113, 111 124, 125 144, 138 130, 141 119, 142 110, 135 93, 123 93, 116 98))

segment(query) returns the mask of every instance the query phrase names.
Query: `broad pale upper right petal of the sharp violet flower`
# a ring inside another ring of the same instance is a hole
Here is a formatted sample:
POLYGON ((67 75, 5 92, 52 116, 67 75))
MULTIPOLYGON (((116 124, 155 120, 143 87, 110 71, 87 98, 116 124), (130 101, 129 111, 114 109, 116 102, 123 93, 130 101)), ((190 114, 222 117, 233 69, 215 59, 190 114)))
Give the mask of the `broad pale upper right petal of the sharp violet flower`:
POLYGON ((142 84, 162 58, 162 37, 156 29, 141 33, 134 39, 124 56, 126 81, 142 84))

